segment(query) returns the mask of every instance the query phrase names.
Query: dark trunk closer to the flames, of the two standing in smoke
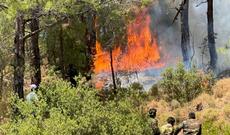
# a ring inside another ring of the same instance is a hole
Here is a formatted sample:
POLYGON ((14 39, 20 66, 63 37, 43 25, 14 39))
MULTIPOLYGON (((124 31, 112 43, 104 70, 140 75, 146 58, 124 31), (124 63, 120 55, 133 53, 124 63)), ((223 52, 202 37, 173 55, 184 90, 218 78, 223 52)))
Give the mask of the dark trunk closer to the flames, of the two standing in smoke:
POLYGON ((185 67, 191 67, 191 46, 189 34, 189 0, 184 0, 181 11, 181 49, 185 67))

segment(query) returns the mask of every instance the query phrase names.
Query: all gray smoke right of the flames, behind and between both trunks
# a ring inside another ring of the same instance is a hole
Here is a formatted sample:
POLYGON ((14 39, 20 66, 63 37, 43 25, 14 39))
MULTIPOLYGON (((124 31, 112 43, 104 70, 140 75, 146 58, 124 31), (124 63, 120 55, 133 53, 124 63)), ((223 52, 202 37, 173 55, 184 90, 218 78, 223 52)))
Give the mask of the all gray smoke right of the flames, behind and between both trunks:
MULTIPOLYGON (((207 44, 207 3, 200 4, 205 0, 190 0, 189 25, 191 46, 194 49, 193 64, 199 68, 205 68, 209 63, 209 52, 202 47, 207 44), (197 6, 199 5, 199 6, 197 6), (204 53, 204 54, 203 54, 204 53), (202 60, 203 56, 203 60, 202 60)), ((152 30, 157 29, 159 45, 162 55, 167 60, 166 64, 175 65, 178 59, 182 59, 180 41, 180 15, 172 25, 176 15, 176 7, 181 0, 158 0, 152 5, 152 30)), ((229 0, 214 0, 214 29, 216 35, 216 48, 218 52, 218 71, 221 72, 230 67, 230 14, 229 0), (229 48, 229 49, 228 49, 229 48)))

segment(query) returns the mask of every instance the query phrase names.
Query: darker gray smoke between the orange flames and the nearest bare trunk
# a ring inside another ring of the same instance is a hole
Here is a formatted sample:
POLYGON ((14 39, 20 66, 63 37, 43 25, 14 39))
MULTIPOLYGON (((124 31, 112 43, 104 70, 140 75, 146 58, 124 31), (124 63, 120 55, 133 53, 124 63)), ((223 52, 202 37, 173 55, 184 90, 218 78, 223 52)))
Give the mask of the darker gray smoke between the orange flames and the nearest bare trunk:
POLYGON ((159 0, 150 8, 152 16, 151 29, 157 33, 162 60, 172 65, 181 58, 179 23, 172 24, 176 10, 168 0, 159 0))

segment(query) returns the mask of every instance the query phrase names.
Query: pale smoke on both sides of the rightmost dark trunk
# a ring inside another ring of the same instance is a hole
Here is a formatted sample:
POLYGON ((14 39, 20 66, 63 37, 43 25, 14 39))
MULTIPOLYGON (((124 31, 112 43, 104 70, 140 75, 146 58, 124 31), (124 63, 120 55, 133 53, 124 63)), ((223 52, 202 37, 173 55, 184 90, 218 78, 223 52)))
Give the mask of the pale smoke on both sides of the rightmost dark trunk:
MULTIPOLYGON (((201 49, 204 38, 207 37, 207 3, 199 5, 201 0, 191 1, 190 3, 190 30, 196 55, 194 62, 202 67, 201 49), (199 5, 197 7, 197 5, 199 5)), ((230 40, 230 14, 229 0, 214 0, 214 29, 216 35, 216 48, 218 53, 217 73, 230 67, 230 50, 228 49, 230 40), (222 51, 221 51, 222 50, 222 51)), ((208 50, 206 52, 205 61, 209 61, 208 50)))

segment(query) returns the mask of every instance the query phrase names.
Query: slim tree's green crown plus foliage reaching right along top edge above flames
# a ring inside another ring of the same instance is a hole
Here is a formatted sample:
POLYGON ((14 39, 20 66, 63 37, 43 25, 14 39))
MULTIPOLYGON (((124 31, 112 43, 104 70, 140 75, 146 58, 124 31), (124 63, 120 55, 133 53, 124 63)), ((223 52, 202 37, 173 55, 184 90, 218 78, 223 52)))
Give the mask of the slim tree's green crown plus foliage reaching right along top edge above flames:
POLYGON ((146 6, 149 2, 150 0, 142 0, 137 4, 133 0, 113 0, 98 8, 97 38, 104 49, 127 45, 126 31, 128 23, 133 19, 133 11, 139 5, 146 6))

